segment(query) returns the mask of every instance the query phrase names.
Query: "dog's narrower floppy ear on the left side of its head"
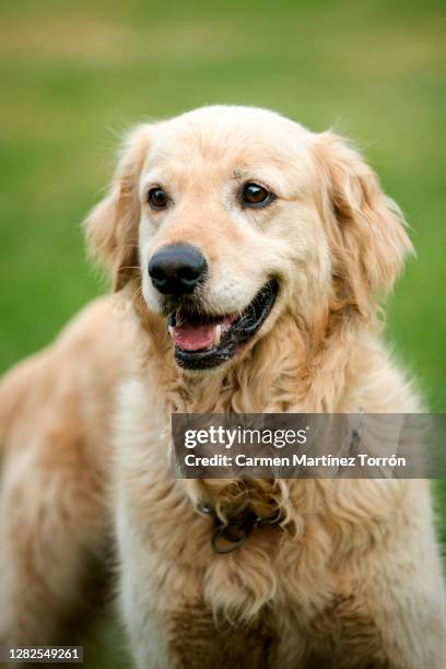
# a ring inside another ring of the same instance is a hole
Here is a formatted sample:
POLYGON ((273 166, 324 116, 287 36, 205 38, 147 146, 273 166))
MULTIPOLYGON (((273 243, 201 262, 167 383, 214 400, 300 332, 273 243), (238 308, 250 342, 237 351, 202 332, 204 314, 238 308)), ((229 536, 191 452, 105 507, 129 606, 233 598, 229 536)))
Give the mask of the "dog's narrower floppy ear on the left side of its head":
POLYGON ((138 271, 138 186, 151 133, 152 126, 142 125, 126 138, 108 193, 85 221, 89 250, 110 266, 115 291, 138 271))

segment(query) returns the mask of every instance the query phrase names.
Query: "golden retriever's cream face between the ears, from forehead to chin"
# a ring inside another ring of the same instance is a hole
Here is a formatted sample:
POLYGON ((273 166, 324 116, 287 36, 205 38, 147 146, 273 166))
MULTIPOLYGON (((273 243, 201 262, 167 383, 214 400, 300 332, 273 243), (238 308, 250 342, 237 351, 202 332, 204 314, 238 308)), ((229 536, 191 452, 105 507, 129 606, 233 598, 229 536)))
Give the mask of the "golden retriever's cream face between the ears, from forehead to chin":
POLYGON ((167 317, 183 367, 245 350, 281 302, 314 287, 304 263, 327 277, 308 141, 291 121, 234 108, 155 130, 139 180, 142 292, 167 317))

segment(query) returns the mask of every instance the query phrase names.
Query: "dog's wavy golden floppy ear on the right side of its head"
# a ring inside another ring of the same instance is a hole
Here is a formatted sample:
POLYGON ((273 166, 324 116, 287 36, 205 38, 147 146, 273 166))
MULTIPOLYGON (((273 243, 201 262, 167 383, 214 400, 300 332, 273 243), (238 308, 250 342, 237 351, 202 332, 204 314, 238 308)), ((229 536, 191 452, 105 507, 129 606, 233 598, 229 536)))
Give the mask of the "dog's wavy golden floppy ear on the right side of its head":
POLYGON ((325 183, 321 208, 334 290, 341 301, 353 301, 366 315, 373 308, 373 292, 391 289, 412 244, 400 209, 345 140, 324 132, 315 150, 325 183))

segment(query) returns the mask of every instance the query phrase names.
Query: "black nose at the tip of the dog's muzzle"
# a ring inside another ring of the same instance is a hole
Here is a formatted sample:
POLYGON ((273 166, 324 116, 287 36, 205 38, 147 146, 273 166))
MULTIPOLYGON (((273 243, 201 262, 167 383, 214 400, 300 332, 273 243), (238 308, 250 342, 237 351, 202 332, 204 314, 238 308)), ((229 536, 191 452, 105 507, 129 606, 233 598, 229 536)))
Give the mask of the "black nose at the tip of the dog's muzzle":
POLYGON ((171 244, 156 251, 149 262, 149 275, 163 295, 191 293, 206 277, 208 263, 190 244, 171 244))

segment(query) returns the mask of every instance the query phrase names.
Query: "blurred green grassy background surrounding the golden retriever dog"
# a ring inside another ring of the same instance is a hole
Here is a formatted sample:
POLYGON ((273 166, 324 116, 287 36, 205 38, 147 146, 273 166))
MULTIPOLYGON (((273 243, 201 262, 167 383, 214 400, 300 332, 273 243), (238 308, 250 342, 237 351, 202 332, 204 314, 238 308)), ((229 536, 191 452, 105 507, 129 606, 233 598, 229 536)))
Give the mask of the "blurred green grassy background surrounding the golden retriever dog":
MULTIPOLYGON (((402 207, 418 259, 387 337, 431 409, 446 411, 445 34, 443 0, 3 1, 1 369, 104 289, 80 223, 122 130, 249 104, 352 137, 402 207)), ((445 488, 438 500, 446 518, 445 488)), ((94 648, 89 667, 113 655, 94 648)))

